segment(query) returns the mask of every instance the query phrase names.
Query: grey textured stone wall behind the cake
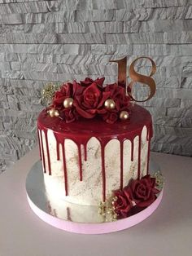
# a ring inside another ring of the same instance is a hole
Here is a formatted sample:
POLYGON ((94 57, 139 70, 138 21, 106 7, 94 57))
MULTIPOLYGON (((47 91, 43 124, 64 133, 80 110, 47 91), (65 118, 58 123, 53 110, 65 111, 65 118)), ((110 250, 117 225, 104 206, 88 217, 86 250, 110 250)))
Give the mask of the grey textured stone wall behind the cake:
POLYGON ((46 82, 115 82, 124 55, 157 64, 152 150, 192 156, 191 0, 0 0, 0 20, 0 170, 37 143, 46 82))

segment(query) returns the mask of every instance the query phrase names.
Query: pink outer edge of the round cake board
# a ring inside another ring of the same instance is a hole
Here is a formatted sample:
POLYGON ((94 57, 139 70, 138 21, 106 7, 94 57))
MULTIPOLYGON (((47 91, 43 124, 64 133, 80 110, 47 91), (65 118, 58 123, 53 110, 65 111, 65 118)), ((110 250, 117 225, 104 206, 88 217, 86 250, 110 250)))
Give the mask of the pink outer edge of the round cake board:
POLYGON ((145 210, 142 210, 138 214, 134 214, 129 218, 122 218, 115 222, 111 223, 75 223, 72 221, 67 221, 62 218, 56 218, 50 214, 47 214, 43 210, 39 209, 37 205, 30 200, 28 194, 28 204, 31 209, 39 218, 41 218, 46 223, 49 223, 51 226, 57 227, 64 231, 74 232, 79 234, 105 234, 111 232, 118 232, 120 230, 124 230, 129 227, 133 227, 137 223, 141 223, 144 219, 148 218, 159 206, 162 197, 163 197, 164 189, 159 193, 157 199, 148 206, 145 210))

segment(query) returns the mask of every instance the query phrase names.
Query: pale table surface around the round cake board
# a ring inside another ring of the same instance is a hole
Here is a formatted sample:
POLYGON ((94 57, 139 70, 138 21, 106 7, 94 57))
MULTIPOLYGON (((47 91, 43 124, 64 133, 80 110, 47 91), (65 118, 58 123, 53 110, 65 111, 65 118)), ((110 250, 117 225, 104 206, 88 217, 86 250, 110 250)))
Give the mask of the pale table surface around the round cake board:
POLYGON ((79 235, 44 223, 30 209, 25 179, 38 159, 35 148, 0 175, 0 256, 191 256, 192 158, 152 153, 166 179, 151 217, 127 230, 79 235))

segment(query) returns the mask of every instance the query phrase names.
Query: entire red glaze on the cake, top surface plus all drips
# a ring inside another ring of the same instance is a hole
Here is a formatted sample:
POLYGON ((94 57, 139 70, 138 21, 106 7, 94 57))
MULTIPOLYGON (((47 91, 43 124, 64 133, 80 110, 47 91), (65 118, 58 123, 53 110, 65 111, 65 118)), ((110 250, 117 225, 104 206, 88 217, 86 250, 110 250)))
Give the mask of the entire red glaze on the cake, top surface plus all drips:
MULTIPOLYGON (((150 141, 152 137, 152 121, 151 114, 141 106, 137 104, 133 104, 130 108, 131 115, 129 120, 126 121, 116 121, 114 124, 107 124, 105 121, 97 118, 93 119, 81 119, 79 121, 74 121, 71 123, 65 123, 60 118, 50 117, 46 110, 41 111, 38 121, 37 127, 40 130, 40 135, 42 130, 45 133, 46 138, 46 151, 48 158, 48 168, 49 174, 51 174, 51 166, 50 166, 50 155, 49 155, 49 145, 47 141, 47 130, 53 130, 55 139, 57 142, 57 158, 60 159, 59 156, 59 144, 62 145, 62 154, 63 154, 63 173, 64 173, 64 183, 65 183, 65 192, 66 196, 68 196, 68 170, 65 159, 65 148, 64 148, 64 140, 72 139, 78 148, 78 157, 79 157, 79 169, 80 169, 80 180, 83 180, 83 170, 82 170, 82 157, 81 157, 81 145, 84 147, 84 160, 87 160, 87 143, 89 139, 95 137, 101 144, 101 158, 102 158, 102 176, 103 176, 103 201, 106 200, 106 170, 105 170, 105 146, 111 139, 118 139, 120 141, 120 188, 123 188, 123 154, 124 140, 129 139, 131 142, 131 161, 133 161, 133 152, 134 152, 134 143, 133 140, 136 136, 138 136, 138 166, 137 166, 137 177, 140 178, 141 172, 141 136, 142 129, 146 126, 147 135, 146 139, 148 140, 148 152, 147 152, 147 172, 149 169, 149 158, 150 158, 150 141)), ((46 172, 45 165, 45 155, 44 148, 41 138, 41 157, 43 161, 43 167, 46 172)), ((118 171, 118 170, 116 170, 118 171)))

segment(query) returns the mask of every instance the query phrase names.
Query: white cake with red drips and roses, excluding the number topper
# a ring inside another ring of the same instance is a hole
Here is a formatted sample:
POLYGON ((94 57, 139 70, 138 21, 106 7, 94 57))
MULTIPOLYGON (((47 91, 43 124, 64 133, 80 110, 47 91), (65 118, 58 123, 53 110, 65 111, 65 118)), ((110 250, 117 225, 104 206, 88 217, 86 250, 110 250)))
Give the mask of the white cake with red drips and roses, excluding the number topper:
POLYGON ((39 114, 37 134, 46 191, 55 200, 100 205, 102 213, 110 202, 120 218, 155 201, 151 114, 131 102, 124 84, 105 85, 104 77, 64 83, 39 114))

